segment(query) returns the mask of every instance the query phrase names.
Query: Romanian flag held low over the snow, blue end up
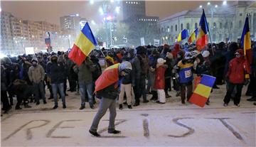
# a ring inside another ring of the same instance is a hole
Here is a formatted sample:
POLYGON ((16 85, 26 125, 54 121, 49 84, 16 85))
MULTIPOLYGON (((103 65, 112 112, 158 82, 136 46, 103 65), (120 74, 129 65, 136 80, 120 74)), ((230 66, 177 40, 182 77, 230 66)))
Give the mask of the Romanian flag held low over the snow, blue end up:
POLYGON ((210 75, 203 75, 201 81, 196 86, 189 102, 198 105, 199 107, 204 107, 207 99, 210 96, 210 91, 214 85, 216 78, 210 75))

